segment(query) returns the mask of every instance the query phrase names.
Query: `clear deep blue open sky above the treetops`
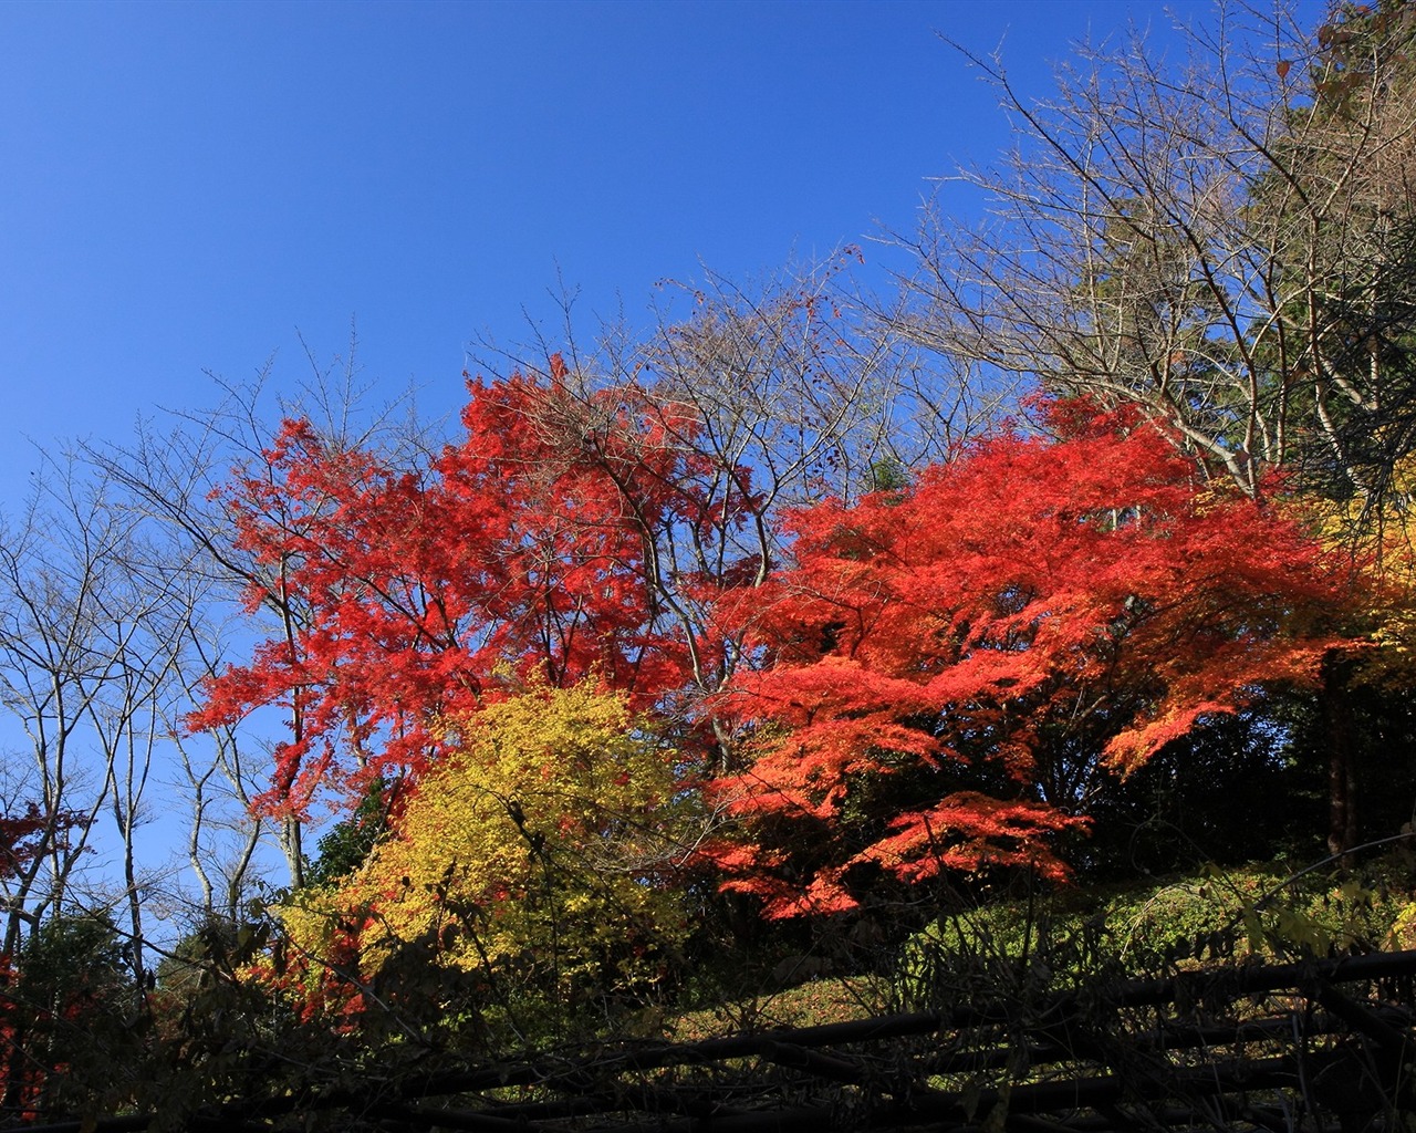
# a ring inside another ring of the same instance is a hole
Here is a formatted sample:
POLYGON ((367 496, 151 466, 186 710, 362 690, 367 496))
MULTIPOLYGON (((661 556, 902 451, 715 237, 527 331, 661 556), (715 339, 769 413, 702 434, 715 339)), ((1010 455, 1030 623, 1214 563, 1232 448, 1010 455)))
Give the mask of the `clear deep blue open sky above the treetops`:
POLYGON ((10 0, 0 507, 25 438, 122 439, 272 351, 293 384, 297 330, 329 355, 357 320, 365 375, 442 414, 469 340, 552 319, 558 269, 583 314, 634 317, 701 263, 908 228, 926 178, 1007 144, 936 33, 1001 42, 1042 93, 1070 41, 1129 20, 1171 23, 1141 0, 10 0))

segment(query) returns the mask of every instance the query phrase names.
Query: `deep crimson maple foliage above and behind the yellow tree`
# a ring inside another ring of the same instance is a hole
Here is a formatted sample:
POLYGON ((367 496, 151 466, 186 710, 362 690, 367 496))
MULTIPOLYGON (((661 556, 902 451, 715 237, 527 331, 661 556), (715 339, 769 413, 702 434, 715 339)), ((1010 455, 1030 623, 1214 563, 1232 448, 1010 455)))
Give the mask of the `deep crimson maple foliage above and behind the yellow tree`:
POLYGON ((227 487, 241 545, 276 579, 252 586, 251 606, 297 616, 211 681, 193 724, 292 712, 263 806, 303 814, 348 752, 365 773, 416 773, 440 718, 531 671, 552 684, 598 674, 643 705, 712 653, 685 608, 714 581, 671 574, 664 555, 685 533, 702 544, 733 524, 746 474, 709 467, 678 406, 639 389, 572 395, 565 378, 554 358, 548 382, 469 384, 466 439, 425 470, 290 421, 227 487))

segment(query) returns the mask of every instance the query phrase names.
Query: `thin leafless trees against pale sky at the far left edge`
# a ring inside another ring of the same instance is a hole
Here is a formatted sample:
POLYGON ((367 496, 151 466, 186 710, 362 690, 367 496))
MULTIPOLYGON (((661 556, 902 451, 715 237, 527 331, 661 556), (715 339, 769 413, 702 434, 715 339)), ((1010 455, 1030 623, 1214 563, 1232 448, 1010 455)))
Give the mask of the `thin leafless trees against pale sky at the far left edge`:
POLYGON ((144 574, 154 557, 110 480, 47 459, 35 484, 0 533, 0 705, 28 738, 27 782, 47 819, 40 853, 4 881, 7 953, 25 923, 101 899, 86 854, 106 853, 113 836, 120 899, 142 939, 135 837, 190 615, 144 574))

